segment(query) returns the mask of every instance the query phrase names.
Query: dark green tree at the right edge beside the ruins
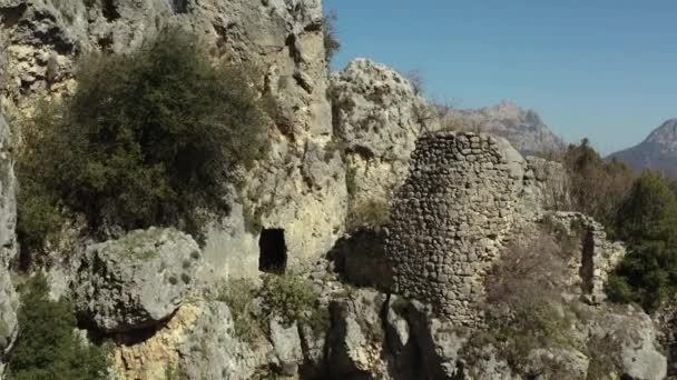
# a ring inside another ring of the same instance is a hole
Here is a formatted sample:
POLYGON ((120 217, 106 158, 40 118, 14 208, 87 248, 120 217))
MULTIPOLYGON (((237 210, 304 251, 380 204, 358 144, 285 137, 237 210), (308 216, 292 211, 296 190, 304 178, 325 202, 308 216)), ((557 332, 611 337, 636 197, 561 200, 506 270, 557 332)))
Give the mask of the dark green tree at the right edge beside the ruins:
POLYGON ((653 311, 677 291, 677 197, 667 180, 645 172, 620 206, 616 230, 629 252, 609 280, 609 296, 653 311))

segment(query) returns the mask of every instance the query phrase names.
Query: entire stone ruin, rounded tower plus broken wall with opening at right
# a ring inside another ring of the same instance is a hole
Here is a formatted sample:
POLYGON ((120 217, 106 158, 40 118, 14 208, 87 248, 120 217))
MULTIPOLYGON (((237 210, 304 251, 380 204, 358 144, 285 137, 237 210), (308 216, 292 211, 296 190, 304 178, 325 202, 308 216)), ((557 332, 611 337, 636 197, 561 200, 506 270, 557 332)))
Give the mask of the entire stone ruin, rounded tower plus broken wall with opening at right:
MULTIPOLYGON (((391 206, 385 249, 393 291, 432 304, 459 324, 477 326, 484 274, 508 240, 566 201, 565 178, 561 164, 524 160, 501 138, 451 131, 422 137, 391 206)), ((585 216, 551 214, 568 228, 580 219, 586 233, 570 264, 571 282, 600 300, 606 276, 625 250, 585 216)))

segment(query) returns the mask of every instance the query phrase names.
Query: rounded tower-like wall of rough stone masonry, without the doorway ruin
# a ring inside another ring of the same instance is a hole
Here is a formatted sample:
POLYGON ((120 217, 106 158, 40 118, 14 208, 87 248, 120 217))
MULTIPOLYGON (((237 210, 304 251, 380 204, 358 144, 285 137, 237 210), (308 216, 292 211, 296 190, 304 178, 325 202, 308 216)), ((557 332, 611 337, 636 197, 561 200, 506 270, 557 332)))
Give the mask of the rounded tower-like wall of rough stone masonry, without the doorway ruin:
POLYGON ((421 138, 395 194, 386 249, 395 292, 462 324, 478 321, 482 274, 518 218, 524 161, 502 139, 471 132, 421 138))

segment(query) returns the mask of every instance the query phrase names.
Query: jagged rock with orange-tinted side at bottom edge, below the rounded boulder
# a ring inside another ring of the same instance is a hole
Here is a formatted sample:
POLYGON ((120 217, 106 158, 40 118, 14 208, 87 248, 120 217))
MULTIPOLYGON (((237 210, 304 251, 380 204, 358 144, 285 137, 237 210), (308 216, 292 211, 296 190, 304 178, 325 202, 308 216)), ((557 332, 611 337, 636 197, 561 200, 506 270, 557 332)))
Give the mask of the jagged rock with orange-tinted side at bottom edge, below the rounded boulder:
POLYGON ((180 307, 150 338, 138 342, 119 336, 114 347, 116 376, 122 379, 251 379, 275 361, 265 340, 243 342, 235 336, 227 304, 197 301, 180 307))

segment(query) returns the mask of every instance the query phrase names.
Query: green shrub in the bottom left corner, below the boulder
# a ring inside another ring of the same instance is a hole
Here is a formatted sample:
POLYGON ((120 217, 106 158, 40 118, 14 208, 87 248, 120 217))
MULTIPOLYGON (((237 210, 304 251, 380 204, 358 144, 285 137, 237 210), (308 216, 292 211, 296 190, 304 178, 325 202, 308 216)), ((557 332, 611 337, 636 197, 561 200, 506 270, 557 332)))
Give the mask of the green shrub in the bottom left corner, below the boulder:
POLYGON ((9 356, 9 380, 107 379, 105 349, 75 334, 69 302, 48 299, 43 277, 30 280, 21 296, 19 338, 9 356))

